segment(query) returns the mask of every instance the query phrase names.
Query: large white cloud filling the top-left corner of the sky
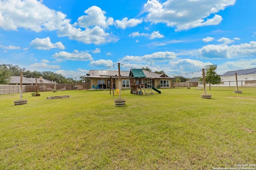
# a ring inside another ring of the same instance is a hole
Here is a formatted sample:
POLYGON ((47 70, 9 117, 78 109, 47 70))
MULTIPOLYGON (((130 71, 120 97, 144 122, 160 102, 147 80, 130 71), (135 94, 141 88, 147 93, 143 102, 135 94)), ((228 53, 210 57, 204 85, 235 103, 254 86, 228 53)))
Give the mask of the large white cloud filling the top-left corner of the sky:
POLYGON ((46 7, 37 0, 0 1, 0 27, 17 30, 18 27, 35 32, 56 30, 70 20, 66 15, 46 7))

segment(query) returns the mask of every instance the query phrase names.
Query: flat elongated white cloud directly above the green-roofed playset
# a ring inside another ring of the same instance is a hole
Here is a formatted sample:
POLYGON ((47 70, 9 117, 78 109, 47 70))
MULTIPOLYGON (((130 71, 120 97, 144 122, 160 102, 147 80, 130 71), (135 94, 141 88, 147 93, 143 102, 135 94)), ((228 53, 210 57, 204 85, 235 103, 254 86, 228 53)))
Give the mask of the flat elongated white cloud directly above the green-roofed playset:
POLYGON ((170 61, 176 59, 176 54, 174 52, 156 52, 150 55, 144 55, 144 56, 126 56, 122 58, 122 61, 124 62, 140 62, 140 63, 147 63, 149 61, 158 61, 158 62, 164 62, 164 61, 170 61))

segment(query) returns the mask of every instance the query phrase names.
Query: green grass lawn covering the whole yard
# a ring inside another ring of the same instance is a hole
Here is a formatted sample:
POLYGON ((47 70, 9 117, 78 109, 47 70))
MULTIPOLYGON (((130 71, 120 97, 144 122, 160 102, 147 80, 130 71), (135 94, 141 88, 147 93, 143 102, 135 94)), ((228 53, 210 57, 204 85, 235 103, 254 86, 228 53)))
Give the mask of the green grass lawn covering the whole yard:
POLYGON ((0 95, 0 169, 213 169, 256 163, 256 88, 0 95), (154 91, 153 91, 154 92, 154 91), (71 98, 48 100, 48 96, 71 98), (118 96, 115 96, 118 98, 118 96), (241 128, 242 127, 242 128, 241 128))

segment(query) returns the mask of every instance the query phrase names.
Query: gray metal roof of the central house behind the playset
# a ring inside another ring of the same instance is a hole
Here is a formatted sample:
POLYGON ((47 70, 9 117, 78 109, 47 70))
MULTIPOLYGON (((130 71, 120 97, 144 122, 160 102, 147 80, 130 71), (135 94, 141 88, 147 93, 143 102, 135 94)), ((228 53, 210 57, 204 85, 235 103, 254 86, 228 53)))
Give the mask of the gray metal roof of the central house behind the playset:
MULTIPOLYGON (((168 78, 168 79, 173 79, 172 77, 167 76, 166 74, 157 74, 154 72, 150 72, 148 70, 142 70, 144 74, 146 75, 147 78, 168 78)), ((130 71, 120 71, 121 76, 128 77, 130 71)), ((102 76, 112 76, 118 77, 118 71, 117 70, 90 70, 88 72, 90 76, 89 78, 101 78, 102 76)))

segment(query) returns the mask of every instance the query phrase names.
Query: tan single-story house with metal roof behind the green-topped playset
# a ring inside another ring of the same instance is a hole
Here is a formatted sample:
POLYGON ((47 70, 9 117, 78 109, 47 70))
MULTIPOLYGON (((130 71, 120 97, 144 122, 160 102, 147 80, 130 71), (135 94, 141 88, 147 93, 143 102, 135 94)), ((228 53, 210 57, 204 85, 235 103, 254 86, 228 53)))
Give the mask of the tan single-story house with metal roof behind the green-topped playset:
MULTIPOLYGON (((130 71, 120 71, 121 79, 122 79, 122 87, 121 88, 130 88, 130 80, 131 78, 138 78, 138 74, 143 75, 141 78, 143 78, 143 81, 147 84, 152 84, 152 86, 158 86, 160 85, 161 88, 171 88, 171 80, 174 79, 172 77, 169 77, 166 74, 157 74, 154 72, 150 72, 147 70, 142 69, 131 69, 130 71), (132 71, 134 70, 134 71, 132 71), (132 73, 132 74, 130 74, 132 73), (134 75, 136 74, 136 75, 134 75)), ((98 87, 102 88, 106 86, 106 88, 110 88, 110 82, 113 82, 114 88, 118 87, 118 71, 116 70, 90 70, 88 72, 91 80, 91 88, 98 87), (110 78, 111 77, 111 78, 110 78), (103 84, 103 85, 102 85, 103 84)), ((134 80, 134 79, 133 79, 134 80)), ((135 79, 136 83, 138 82, 137 79, 135 79)))

